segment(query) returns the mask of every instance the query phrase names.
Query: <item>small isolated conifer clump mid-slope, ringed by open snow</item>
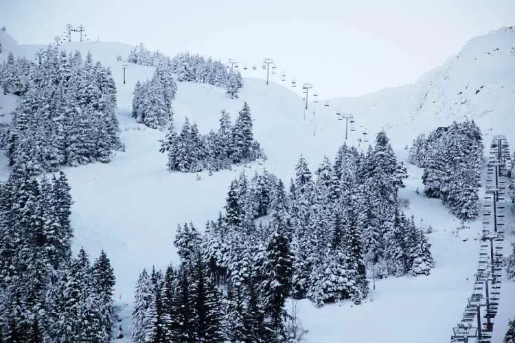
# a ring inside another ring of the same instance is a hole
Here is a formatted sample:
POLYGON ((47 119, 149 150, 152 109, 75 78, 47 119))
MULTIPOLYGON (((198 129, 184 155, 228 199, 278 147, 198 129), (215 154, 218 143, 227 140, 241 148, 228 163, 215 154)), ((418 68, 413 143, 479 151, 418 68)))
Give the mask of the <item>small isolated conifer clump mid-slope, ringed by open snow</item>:
POLYGON ((266 156, 253 139, 251 110, 247 102, 238 113, 234 125, 227 111, 221 111, 218 132, 199 134, 195 122, 185 119, 178 134, 171 121, 160 152, 168 154, 171 171, 197 172, 229 169, 233 163, 249 163, 266 156))

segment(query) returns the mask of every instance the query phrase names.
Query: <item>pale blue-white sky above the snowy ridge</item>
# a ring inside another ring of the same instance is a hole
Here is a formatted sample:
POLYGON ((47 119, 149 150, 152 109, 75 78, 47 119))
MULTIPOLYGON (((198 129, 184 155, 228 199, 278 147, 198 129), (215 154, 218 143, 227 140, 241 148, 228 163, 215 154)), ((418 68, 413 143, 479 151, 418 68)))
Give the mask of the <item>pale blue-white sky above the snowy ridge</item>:
POLYGON ((170 56, 270 57, 288 83, 328 98, 414 82, 470 38, 515 25, 515 0, 0 0, 20 44, 51 43, 67 23, 170 56))

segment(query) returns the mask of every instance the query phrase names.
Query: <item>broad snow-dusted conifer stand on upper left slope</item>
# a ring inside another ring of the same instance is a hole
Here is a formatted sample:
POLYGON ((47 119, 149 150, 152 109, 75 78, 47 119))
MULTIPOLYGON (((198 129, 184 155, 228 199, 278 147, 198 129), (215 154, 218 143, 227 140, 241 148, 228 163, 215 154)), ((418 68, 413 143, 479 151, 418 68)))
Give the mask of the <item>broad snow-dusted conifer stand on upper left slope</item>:
POLYGON ((30 65, 27 91, 1 141, 10 167, 36 175, 110 161, 122 148, 111 70, 93 62, 91 53, 83 62, 79 51, 67 55, 54 47, 41 64, 30 65))

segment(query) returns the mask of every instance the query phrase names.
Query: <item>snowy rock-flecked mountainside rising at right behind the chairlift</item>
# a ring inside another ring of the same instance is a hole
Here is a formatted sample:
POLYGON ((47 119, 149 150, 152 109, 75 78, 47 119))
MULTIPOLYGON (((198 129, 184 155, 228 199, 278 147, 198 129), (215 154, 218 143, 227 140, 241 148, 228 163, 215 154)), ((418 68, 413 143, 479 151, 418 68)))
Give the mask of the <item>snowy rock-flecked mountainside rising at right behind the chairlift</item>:
POLYGON ((415 132, 464 117, 479 124, 487 135, 485 141, 490 140, 491 132, 503 132, 513 142, 514 130, 506 128, 514 127, 515 27, 472 38, 459 54, 415 84, 363 97, 330 99, 330 103, 354 113, 356 123, 373 132, 381 126, 392 133, 404 132, 393 134, 398 147, 411 143, 415 132))

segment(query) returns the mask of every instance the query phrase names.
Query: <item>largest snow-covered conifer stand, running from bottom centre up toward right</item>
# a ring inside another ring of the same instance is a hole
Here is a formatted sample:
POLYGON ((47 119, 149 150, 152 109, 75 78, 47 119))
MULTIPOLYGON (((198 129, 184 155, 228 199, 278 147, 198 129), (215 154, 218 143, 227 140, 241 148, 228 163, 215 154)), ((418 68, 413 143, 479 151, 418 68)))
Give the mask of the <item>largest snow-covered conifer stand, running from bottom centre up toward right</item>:
POLYGON ((314 174, 302 156, 288 190, 266 170, 250 179, 242 173, 229 186, 225 213, 202 234, 192 223, 179 225, 181 265, 166 271, 174 281, 156 276, 153 286, 141 286, 152 276, 140 276, 133 340, 165 337, 167 327, 176 342, 198 342, 209 327, 220 342, 295 341, 286 298, 361 303, 367 276, 431 272, 431 244, 398 204, 407 171, 384 132, 366 154, 343 145, 334 163, 324 158, 314 174), (159 304, 165 297, 174 300, 159 304), (164 321, 170 324, 156 324, 164 321))

